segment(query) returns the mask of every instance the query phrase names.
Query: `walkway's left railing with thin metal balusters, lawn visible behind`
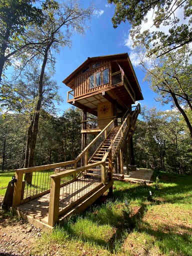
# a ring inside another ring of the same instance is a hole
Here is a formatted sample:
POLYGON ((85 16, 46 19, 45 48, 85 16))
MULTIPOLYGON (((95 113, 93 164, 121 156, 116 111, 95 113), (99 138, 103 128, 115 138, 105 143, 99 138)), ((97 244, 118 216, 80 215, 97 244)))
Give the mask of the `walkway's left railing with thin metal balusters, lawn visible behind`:
POLYGON ((12 206, 48 193, 50 191, 50 175, 55 172, 55 168, 62 167, 63 171, 63 169, 73 169, 74 166, 75 161, 67 161, 15 169, 16 182, 14 183, 12 206), (30 183, 26 182, 26 175, 30 175, 30 183))

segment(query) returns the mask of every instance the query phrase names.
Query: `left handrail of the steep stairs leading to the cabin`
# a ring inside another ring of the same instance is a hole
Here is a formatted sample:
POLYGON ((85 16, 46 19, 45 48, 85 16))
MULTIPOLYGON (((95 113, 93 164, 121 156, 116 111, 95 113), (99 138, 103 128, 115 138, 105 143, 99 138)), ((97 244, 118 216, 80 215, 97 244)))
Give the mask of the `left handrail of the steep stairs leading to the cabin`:
MULTIPOLYGON (((83 156, 86 158, 84 160, 84 162, 82 163, 83 165, 86 165, 88 163, 88 149, 94 144, 96 143, 96 141, 98 140, 99 137, 101 137, 101 135, 104 133, 104 138, 103 140, 106 138, 107 136, 107 129, 110 127, 110 125, 112 124, 112 127, 114 127, 114 122, 117 118, 113 118, 99 133, 98 135, 79 153, 79 155, 75 158, 75 162, 77 164, 77 162, 83 158, 83 156)), ((110 128, 110 130, 112 129, 112 127, 110 128)), ((102 141, 103 141, 102 140, 102 141)), ((102 142, 101 142, 102 143, 102 142)), ((98 148, 98 147, 97 147, 98 148)), ((97 149, 95 149, 97 150, 97 149)))

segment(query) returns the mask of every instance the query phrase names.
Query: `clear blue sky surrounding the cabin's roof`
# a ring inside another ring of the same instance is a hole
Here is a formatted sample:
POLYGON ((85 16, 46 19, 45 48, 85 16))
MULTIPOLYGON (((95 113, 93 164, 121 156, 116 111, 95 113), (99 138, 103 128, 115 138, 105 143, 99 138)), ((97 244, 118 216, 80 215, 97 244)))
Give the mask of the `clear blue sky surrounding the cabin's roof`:
MULTIPOLYGON (((63 97, 60 108, 63 110, 71 105, 66 103, 67 91, 70 90, 62 80, 67 77, 75 68, 77 68, 87 57, 116 54, 128 52, 131 49, 125 45, 128 38, 129 24, 122 23, 116 29, 112 27, 111 18, 114 13, 114 6, 107 3, 107 0, 94 0, 95 6, 99 8, 98 14, 95 15, 90 23, 90 30, 86 30, 85 36, 75 34, 72 37, 72 47, 60 50, 57 55, 57 63, 55 66, 56 73, 54 78, 61 87, 59 93, 63 97)), ((89 0, 83 0, 82 4, 87 6, 89 0)), ((157 108, 165 110, 168 106, 161 106, 154 100, 155 94, 149 88, 147 82, 143 82, 144 73, 138 66, 134 66, 134 70, 140 84, 144 100, 140 101, 141 106, 146 104, 149 107, 154 105, 157 108)), ((62 113, 61 110, 61 113, 62 113)))

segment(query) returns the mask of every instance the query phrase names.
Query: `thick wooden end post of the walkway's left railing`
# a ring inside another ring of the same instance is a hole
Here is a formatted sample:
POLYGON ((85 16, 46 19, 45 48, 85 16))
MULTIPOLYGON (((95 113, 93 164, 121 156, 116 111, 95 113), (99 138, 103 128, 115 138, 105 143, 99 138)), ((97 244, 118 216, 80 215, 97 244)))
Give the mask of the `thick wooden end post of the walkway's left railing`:
POLYGON ((21 196, 22 196, 22 176, 23 171, 19 170, 15 173, 16 182, 14 183, 14 191, 13 191, 13 199, 12 206, 17 206, 20 204, 21 196))

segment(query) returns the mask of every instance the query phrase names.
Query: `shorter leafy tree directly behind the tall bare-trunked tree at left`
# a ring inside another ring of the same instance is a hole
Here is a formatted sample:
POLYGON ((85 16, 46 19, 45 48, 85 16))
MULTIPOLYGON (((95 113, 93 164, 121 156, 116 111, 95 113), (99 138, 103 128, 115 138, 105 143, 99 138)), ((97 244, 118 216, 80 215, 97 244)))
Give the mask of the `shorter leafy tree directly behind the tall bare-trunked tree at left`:
MULTIPOLYGON (((32 128, 35 116, 36 99, 38 97, 38 79, 40 70, 34 62, 31 63, 32 67, 26 67, 25 70, 19 76, 18 81, 16 80, 13 85, 16 89, 15 96, 19 98, 19 101, 15 102, 13 109, 19 110, 24 115, 26 121, 26 146, 25 146, 25 161, 24 166, 28 166, 30 143, 32 137, 32 128)), ((42 82, 42 101, 41 108, 44 111, 55 114, 54 101, 61 100, 57 94, 58 86, 56 82, 51 79, 51 72, 43 75, 42 82)), ((40 110, 39 110, 40 115, 40 110)))

